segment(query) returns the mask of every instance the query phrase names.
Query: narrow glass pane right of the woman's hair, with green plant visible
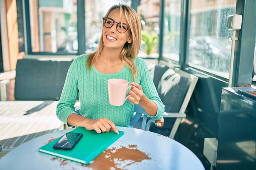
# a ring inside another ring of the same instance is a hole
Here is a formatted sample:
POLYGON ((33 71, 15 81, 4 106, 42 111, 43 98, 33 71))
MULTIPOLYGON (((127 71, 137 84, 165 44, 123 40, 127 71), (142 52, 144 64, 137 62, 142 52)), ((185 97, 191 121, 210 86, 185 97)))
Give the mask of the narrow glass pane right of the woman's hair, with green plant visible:
POLYGON ((142 23, 139 56, 158 58, 160 0, 140 0, 137 12, 142 23))

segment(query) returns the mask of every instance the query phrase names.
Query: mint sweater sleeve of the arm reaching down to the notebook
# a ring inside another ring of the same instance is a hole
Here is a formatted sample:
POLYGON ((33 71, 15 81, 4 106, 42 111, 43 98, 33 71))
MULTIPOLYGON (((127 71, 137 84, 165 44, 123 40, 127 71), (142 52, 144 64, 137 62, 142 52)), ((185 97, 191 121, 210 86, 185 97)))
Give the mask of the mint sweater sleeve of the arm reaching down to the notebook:
POLYGON ((67 71, 67 77, 61 93, 60 101, 57 105, 56 115, 61 122, 64 122, 68 127, 67 118, 75 112, 75 103, 78 96, 78 79, 77 79, 77 63, 76 59, 71 63, 67 71))

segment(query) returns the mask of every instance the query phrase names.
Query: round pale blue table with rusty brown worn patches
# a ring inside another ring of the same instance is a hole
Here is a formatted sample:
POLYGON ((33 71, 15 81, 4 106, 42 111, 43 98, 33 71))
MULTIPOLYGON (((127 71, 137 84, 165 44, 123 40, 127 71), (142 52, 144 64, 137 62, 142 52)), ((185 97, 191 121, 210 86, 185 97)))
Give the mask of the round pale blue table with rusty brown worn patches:
POLYGON ((73 129, 48 133, 15 148, 0 159, 1 170, 204 170, 188 148, 165 136, 117 127, 124 135, 88 165, 39 153, 39 147, 73 129))

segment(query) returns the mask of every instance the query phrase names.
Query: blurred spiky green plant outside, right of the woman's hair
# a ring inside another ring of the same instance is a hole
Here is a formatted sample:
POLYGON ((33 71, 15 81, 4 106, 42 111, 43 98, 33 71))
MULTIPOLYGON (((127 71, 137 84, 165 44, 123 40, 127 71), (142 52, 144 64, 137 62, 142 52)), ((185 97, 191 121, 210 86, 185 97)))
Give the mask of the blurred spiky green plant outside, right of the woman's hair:
POLYGON ((150 34, 142 31, 142 40, 144 41, 144 52, 146 54, 151 54, 154 50, 154 46, 157 43, 158 35, 154 32, 151 32, 150 34))

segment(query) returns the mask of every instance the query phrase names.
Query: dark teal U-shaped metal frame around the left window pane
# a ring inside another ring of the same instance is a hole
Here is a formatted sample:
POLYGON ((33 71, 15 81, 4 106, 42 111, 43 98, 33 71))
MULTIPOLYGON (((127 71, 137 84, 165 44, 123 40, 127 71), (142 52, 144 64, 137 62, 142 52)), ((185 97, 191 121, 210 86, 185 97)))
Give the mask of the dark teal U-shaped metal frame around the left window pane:
POLYGON ((67 52, 32 52, 32 42, 31 42, 31 28, 30 28, 30 11, 29 11, 29 0, 24 0, 24 13, 25 13, 25 25, 26 28, 26 45, 25 51, 29 55, 81 55, 85 53, 85 0, 77 1, 77 40, 78 40, 78 52, 77 53, 67 53, 67 52))

